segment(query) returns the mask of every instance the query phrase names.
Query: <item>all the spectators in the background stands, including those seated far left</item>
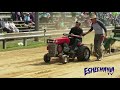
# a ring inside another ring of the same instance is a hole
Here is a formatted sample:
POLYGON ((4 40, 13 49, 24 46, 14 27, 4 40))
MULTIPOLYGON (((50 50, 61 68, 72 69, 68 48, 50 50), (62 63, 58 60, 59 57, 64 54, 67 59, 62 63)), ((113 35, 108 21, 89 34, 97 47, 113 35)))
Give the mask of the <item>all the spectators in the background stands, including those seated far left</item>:
MULTIPOLYGON (((120 24, 120 13, 118 12, 71 12, 72 21, 81 21, 82 25, 89 27, 91 25, 90 15, 95 14, 106 26, 120 24)), ((54 21, 53 12, 40 12, 39 19, 41 23, 55 23, 56 28, 64 28, 66 21, 66 12, 60 12, 60 17, 56 17, 54 21)), ((35 12, 11 12, 11 21, 0 19, 0 26, 7 33, 19 32, 13 21, 24 21, 25 25, 31 26, 35 24, 35 12)), ((71 22, 71 23, 73 23, 71 22)), ((72 25, 71 25, 72 26, 72 25)))

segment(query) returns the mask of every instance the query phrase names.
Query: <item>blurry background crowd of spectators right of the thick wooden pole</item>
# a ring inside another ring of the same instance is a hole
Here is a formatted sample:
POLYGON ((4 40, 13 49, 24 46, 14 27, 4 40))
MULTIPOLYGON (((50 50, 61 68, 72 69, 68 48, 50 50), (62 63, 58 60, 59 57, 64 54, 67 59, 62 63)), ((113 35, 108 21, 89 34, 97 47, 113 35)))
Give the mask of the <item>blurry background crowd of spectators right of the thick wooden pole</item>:
MULTIPOLYGON (((65 22, 67 21, 68 12, 60 12, 60 17, 56 17, 56 21, 53 19, 53 12, 42 12, 40 13, 40 22, 42 23, 55 23, 56 27, 64 28, 65 22)), ((81 21, 82 26, 90 27, 91 21, 90 15, 95 14, 99 20, 104 22, 106 26, 120 24, 120 14, 118 12, 71 12, 72 21, 81 21)), ((73 23, 71 22, 71 24, 73 23)))

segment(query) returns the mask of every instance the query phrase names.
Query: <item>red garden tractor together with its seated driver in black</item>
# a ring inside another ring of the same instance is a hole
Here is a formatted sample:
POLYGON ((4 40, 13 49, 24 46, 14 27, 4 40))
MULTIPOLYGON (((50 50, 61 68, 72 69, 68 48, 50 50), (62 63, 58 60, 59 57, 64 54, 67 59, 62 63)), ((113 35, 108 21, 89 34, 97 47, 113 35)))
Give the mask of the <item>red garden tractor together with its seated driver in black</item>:
POLYGON ((44 61, 50 62, 51 57, 59 57, 60 62, 66 64, 69 60, 88 61, 90 50, 82 44, 83 30, 81 23, 76 22, 75 27, 71 28, 69 34, 63 34, 63 37, 48 39, 48 53, 44 55, 44 61))

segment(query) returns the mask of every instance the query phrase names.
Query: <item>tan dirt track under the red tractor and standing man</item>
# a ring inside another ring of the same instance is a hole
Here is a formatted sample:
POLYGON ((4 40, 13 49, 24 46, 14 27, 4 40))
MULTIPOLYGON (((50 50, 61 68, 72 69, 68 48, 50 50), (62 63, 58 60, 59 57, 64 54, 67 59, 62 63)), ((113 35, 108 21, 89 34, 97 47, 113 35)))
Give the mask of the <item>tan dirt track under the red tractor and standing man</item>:
POLYGON ((105 57, 102 61, 70 62, 61 64, 43 61, 46 47, 0 52, 0 78, 120 78, 120 55, 105 57), (84 76, 86 67, 114 67, 113 75, 99 72, 84 76))

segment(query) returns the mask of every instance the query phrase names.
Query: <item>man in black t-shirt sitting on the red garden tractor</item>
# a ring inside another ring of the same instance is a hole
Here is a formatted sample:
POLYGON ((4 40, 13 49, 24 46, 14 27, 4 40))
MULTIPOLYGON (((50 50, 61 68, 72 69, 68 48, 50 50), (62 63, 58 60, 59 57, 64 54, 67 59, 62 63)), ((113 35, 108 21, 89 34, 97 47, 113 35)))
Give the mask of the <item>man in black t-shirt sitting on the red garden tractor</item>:
MULTIPOLYGON (((71 28, 69 34, 72 35, 83 35, 83 30, 80 28, 81 23, 79 21, 76 22, 75 27, 71 28)), ((74 53, 74 51, 77 49, 77 44, 78 42, 82 42, 82 38, 81 37, 73 37, 71 38, 70 42, 73 45, 71 52, 74 53)))

